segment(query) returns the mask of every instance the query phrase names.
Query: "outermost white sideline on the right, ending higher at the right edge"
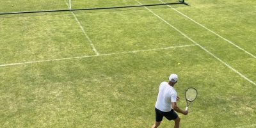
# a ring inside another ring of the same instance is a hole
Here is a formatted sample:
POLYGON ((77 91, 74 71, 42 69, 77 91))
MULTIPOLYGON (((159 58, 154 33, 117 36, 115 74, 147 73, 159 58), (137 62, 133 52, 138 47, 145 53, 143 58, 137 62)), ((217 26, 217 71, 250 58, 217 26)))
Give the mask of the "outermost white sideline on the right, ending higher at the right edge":
MULTIPOLYGON (((161 1, 161 0, 159 0, 159 1, 161 1)), ((161 1, 161 2, 162 2, 162 3, 164 3, 163 1, 161 1)), ((175 8, 173 8, 172 6, 170 6, 170 5, 167 5, 167 6, 169 6, 170 8, 172 8, 173 10, 175 10, 176 12, 180 13, 180 15, 183 15, 184 17, 186 17, 186 18, 188 18, 189 20, 191 20, 191 21, 195 22, 196 24, 198 24, 198 25, 199 25, 199 26, 201 26, 202 28, 207 29, 208 31, 210 31, 210 32, 211 32, 211 33, 213 33, 214 35, 219 36, 220 38, 222 38, 223 40, 225 40, 225 41, 226 41, 226 42, 228 42, 229 44, 234 45, 234 46, 235 46, 235 47, 237 47, 238 49, 240 49, 240 50, 242 50, 242 51, 246 52, 247 54, 249 54, 250 56, 252 56, 253 58, 255 58, 255 59, 256 59, 256 56, 254 56, 252 53, 250 53, 250 52, 248 52, 248 51, 244 50, 243 48, 239 47, 238 45, 234 44, 233 42, 231 42, 231 41, 230 41, 230 40, 228 40, 227 38, 224 38, 223 36, 218 35, 218 34, 217 34, 217 33, 215 33, 214 31, 212 31, 211 29, 206 28, 205 26, 203 26, 203 25, 202 25, 202 24, 200 24, 199 22, 196 22, 195 20, 193 20, 193 19, 191 19, 190 17, 188 17, 188 15, 185 15, 184 13, 179 12, 178 10, 176 10, 175 8)))

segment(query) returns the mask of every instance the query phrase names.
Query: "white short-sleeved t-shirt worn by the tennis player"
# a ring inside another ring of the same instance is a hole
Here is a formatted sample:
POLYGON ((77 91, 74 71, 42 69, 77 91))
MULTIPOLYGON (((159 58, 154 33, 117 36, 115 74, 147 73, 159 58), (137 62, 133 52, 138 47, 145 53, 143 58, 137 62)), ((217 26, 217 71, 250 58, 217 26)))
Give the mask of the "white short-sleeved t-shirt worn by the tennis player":
POLYGON ((167 82, 162 82, 156 100, 156 108, 168 112, 172 110, 172 102, 176 102, 177 92, 167 82))

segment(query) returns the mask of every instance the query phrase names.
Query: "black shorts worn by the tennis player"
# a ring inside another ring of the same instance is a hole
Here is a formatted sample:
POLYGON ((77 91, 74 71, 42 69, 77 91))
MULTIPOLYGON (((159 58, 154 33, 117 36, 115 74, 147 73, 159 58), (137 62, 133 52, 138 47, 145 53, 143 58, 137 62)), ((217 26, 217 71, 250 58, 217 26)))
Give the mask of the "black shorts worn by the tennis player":
POLYGON ((159 109, 155 108, 155 111, 156 111, 156 122, 161 122, 163 120, 163 116, 165 118, 167 118, 168 120, 175 120, 176 118, 178 118, 177 113, 175 113, 175 111, 173 111, 173 109, 168 112, 163 112, 163 111, 160 111, 159 109))

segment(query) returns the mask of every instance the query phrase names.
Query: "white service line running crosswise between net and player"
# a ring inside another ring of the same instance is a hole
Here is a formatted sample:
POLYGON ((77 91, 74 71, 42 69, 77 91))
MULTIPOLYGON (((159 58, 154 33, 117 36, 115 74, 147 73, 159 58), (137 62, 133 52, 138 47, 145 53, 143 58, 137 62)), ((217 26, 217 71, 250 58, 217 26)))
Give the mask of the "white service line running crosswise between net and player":
POLYGON ((14 66, 14 65, 26 65, 31 63, 42 63, 42 62, 48 62, 48 61, 61 61, 61 60, 74 60, 74 59, 81 59, 81 58, 92 58, 97 56, 110 56, 113 54, 125 54, 125 53, 135 53, 135 52, 146 52, 146 51, 157 51, 157 50, 163 50, 163 49, 175 49, 178 47, 191 47, 195 46, 193 45, 180 45, 180 46, 174 46, 174 47, 164 47, 159 49, 146 49, 146 50, 140 50, 140 51, 127 51, 127 52, 114 52, 114 53, 108 53, 108 54, 99 54, 99 55, 92 55, 92 56, 77 56, 72 58, 60 58, 60 59, 52 59, 52 60, 39 60, 39 61, 28 61, 28 62, 20 62, 20 63, 9 63, 0 65, 0 67, 8 67, 8 66, 14 66))

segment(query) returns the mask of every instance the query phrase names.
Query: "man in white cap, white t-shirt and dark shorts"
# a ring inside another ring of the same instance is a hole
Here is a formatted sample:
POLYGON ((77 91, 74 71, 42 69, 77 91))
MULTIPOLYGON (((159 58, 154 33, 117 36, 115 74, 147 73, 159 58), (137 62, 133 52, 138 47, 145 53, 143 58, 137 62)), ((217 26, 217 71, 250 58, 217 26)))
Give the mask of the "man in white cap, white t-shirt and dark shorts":
POLYGON ((156 122, 152 125, 152 128, 156 128, 161 124, 163 116, 168 120, 174 120, 174 128, 178 128, 180 125, 180 118, 176 112, 188 115, 188 111, 182 110, 177 106, 176 101, 179 100, 177 92, 173 88, 175 83, 178 82, 178 76, 171 74, 169 82, 162 82, 159 86, 159 92, 156 100, 156 122))

